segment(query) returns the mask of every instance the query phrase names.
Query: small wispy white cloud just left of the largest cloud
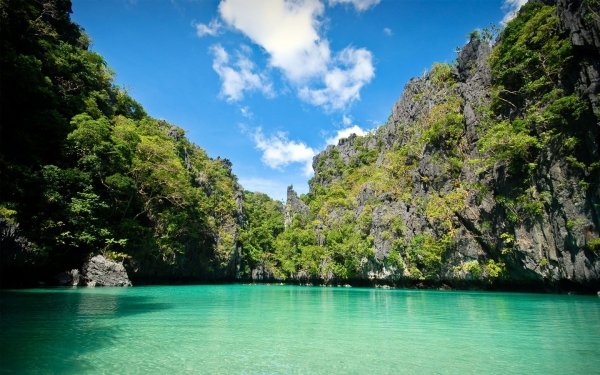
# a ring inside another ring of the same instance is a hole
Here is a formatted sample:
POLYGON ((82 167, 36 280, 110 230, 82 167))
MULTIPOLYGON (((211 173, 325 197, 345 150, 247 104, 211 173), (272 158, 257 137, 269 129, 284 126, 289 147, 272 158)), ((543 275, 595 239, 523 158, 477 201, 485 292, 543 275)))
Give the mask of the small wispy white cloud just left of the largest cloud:
POLYGON ((213 69, 221 78, 221 95, 229 102, 239 101, 245 91, 260 91, 273 95, 272 85, 264 74, 255 71, 256 66, 248 57, 248 51, 237 51, 237 59, 231 61, 229 54, 220 44, 210 48, 213 54, 213 69))

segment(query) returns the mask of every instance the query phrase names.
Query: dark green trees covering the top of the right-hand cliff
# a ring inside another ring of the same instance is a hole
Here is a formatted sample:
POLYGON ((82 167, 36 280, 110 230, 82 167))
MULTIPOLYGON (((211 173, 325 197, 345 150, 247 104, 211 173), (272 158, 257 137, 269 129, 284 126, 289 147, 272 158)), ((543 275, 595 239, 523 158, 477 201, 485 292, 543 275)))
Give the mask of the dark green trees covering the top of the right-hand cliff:
POLYGON ((585 167, 577 161, 586 153, 578 139, 593 120, 587 117, 589 104, 561 85, 574 55, 556 8, 540 2, 524 6, 500 34, 490 63, 491 111, 479 141, 488 167, 500 162, 515 178, 535 175, 541 151, 555 144, 564 145, 560 152, 567 160, 585 167))

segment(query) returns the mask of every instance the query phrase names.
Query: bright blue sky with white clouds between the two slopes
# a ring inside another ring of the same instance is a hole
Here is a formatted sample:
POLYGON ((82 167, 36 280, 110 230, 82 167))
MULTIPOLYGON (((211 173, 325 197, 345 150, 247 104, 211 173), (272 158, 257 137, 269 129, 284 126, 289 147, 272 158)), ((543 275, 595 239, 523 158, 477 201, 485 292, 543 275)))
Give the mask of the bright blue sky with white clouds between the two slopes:
POLYGON ((73 0, 72 19, 152 117, 241 185, 308 192, 312 158, 383 125, 404 85, 525 0, 73 0))

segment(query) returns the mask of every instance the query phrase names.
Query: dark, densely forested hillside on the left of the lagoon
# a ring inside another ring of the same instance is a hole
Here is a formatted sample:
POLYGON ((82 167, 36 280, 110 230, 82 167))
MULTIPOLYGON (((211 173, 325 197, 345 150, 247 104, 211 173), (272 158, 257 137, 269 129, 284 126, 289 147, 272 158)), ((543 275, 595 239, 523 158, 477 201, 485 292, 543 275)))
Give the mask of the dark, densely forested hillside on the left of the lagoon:
POLYGON ((232 274, 231 165, 116 87, 69 13, 68 0, 0 2, 3 276, 55 273, 92 253, 140 275, 232 274))

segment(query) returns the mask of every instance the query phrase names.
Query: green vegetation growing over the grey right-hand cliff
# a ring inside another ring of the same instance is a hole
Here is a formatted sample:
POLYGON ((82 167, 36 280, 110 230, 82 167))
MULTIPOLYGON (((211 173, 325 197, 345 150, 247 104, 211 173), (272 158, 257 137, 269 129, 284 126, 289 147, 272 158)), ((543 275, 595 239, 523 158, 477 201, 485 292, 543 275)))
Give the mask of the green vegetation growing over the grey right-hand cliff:
MULTIPOLYGON (((496 32, 484 30, 471 38, 490 42, 496 32)), ((477 109, 482 116, 477 129, 478 159, 468 155, 471 145, 465 139, 464 99, 455 69, 434 64, 424 78, 431 86, 414 96, 416 103, 428 109, 410 127, 399 125, 403 143, 382 150, 375 133, 349 140, 319 157, 307 196, 311 210, 305 218, 306 223, 319 224, 291 226, 282 234, 282 238, 296 239, 284 244, 285 248, 296 247, 294 254, 286 254, 294 259, 293 266, 286 263, 286 277, 293 277, 294 272, 326 280, 356 277, 360 265, 377 262, 373 244, 378 238, 389 244, 383 264, 395 272, 394 277, 440 279, 464 228, 459 216, 469 215, 471 199, 481 204, 485 197, 493 198, 507 227, 494 241, 492 233, 497 229, 490 221, 482 221, 475 235, 489 241, 495 251, 459 269, 474 279, 493 281, 506 276, 519 251, 514 228, 542 220, 555 202, 551 192, 536 184, 546 173, 544 152, 556 149, 574 173, 579 170, 589 176, 594 168, 595 160, 586 157, 581 143, 581 129, 590 121, 589 104, 574 94, 572 87, 561 85, 573 63, 573 48, 559 27, 556 8, 540 2, 523 7, 519 17, 501 32, 490 58, 490 104, 477 109), (378 146, 369 149, 367 144, 378 146), (349 147, 358 156, 344 159, 341 153, 352 155, 349 147), (422 169, 419 163, 426 154, 431 155, 427 162, 436 165, 441 174, 422 169), (500 192, 467 181, 465 169, 471 166, 479 173, 505 167, 509 183, 500 192), (426 186, 428 194, 415 196, 415 184, 426 186), (447 186, 453 189, 442 190, 447 186), (388 204, 380 201, 381 196, 412 206, 427 220, 428 231, 390 230, 399 218, 381 218, 381 208, 388 204), (379 228, 387 229, 381 232, 379 228), (307 252, 310 257, 304 255, 307 252)), ((592 185, 582 181, 587 184, 583 191, 592 185)))

